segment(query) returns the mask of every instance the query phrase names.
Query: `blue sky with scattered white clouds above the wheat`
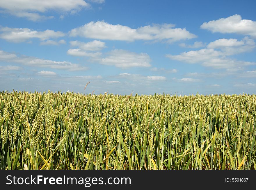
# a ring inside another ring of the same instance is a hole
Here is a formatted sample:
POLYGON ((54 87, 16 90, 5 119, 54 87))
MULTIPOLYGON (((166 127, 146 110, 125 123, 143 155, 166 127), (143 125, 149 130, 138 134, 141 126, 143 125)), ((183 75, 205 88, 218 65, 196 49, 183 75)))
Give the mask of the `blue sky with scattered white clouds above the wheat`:
POLYGON ((0 90, 253 94, 255 6, 1 1, 0 90))

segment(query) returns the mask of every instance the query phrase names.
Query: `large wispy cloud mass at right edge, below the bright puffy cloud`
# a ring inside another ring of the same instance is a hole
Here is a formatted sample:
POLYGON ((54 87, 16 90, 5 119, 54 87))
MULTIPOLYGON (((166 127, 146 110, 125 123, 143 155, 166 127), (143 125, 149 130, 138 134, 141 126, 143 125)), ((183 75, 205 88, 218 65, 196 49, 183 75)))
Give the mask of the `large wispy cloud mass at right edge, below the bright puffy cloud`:
POLYGON ((201 63, 206 67, 225 68, 229 71, 234 71, 255 63, 235 60, 228 56, 250 52, 254 48, 255 42, 248 37, 243 38, 241 41, 237 41, 237 39, 219 39, 209 43, 204 49, 183 52, 179 55, 167 54, 166 57, 186 63, 201 63))

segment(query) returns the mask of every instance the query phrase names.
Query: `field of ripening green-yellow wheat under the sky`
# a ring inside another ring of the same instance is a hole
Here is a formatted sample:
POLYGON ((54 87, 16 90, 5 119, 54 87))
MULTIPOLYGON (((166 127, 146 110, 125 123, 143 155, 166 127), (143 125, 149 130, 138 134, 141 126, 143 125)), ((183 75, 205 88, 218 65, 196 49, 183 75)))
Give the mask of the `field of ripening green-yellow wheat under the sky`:
POLYGON ((0 169, 256 169, 256 95, 0 93, 0 169))

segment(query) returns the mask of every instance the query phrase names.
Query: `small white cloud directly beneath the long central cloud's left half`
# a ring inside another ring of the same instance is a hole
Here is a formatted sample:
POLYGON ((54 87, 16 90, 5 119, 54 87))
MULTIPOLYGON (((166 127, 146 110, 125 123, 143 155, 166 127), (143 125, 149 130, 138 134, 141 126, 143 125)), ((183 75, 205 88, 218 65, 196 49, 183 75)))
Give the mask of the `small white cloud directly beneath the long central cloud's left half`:
POLYGON ((103 48, 106 48, 105 42, 99 40, 93 40, 92 42, 79 42, 79 41, 70 41, 71 46, 78 46, 79 49, 88 50, 88 51, 99 51, 103 48))

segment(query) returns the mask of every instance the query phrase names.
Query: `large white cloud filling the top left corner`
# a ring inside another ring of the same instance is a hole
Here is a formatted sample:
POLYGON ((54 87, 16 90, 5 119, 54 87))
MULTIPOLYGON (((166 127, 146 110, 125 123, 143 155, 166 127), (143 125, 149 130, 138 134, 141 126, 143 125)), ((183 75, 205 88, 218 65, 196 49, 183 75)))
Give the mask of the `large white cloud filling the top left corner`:
POLYGON ((50 10, 58 12, 77 12, 81 10, 82 7, 88 7, 89 4, 83 0, 8 0, 1 1, 0 8, 3 11, 8 12, 17 17, 25 17, 32 21, 37 21, 41 19, 53 18, 53 16, 44 16, 38 14, 48 12, 50 10))

